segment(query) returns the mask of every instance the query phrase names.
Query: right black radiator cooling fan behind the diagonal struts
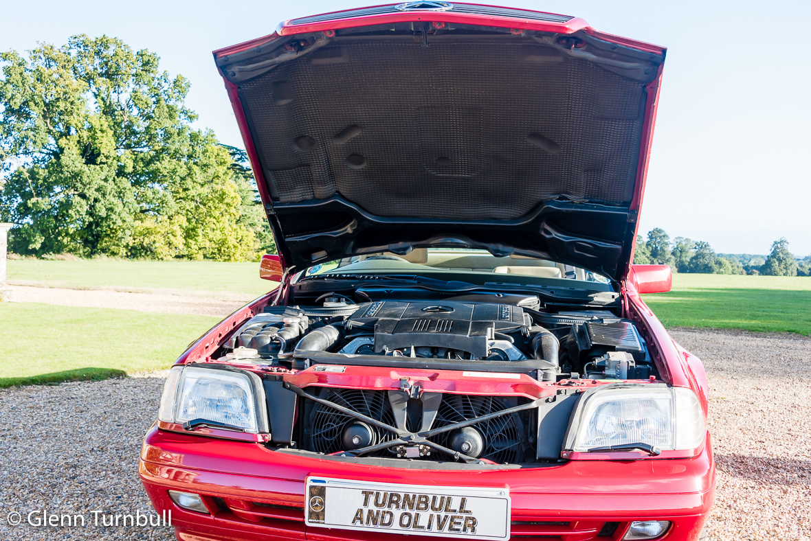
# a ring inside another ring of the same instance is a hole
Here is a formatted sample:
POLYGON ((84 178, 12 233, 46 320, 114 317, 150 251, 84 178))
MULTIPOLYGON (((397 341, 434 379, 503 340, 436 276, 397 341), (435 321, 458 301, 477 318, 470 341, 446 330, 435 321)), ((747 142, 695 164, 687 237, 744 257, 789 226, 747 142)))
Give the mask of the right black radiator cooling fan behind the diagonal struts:
MULTIPOLYGON (((461 423, 505 409, 507 407, 499 399, 491 396, 444 394, 431 428, 461 423)), ((513 413, 460 430, 443 432, 431 440, 476 458, 507 464, 520 462, 522 434, 521 419, 513 413)))

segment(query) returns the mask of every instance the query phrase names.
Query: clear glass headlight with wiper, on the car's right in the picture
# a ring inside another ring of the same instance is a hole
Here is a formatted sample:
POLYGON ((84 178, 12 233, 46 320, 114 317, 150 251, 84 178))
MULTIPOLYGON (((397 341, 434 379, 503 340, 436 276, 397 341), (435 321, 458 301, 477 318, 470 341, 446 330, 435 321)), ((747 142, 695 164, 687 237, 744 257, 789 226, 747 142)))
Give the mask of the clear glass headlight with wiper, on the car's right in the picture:
POLYGON ((564 449, 587 452, 640 443, 660 450, 696 449, 705 434, 704 412, 692 390, 616 384, 582 395, 564 449))

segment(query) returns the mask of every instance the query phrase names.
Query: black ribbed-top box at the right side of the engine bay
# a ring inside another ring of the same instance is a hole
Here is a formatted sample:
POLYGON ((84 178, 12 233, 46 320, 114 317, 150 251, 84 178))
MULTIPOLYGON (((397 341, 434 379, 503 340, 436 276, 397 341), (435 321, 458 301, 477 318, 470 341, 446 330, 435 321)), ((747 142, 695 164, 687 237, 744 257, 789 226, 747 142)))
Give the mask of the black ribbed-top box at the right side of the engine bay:
POLYGON ((627 351, 633 360, 646 360, 642 337, 632 322, 622 319, 586 322, 572 326, 566 347, 573 360, 603 356, 609 351, 627 351))

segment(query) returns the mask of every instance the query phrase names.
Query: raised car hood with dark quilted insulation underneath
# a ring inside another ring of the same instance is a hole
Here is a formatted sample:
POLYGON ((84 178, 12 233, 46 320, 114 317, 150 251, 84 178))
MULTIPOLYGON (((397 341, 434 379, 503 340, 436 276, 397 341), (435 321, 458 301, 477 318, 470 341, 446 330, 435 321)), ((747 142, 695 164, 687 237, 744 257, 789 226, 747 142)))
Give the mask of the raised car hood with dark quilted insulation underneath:
POLYGON ((616 280, 664 55, 455 2, 294 19, 214 53, 286 267, 466 246, 616 280))

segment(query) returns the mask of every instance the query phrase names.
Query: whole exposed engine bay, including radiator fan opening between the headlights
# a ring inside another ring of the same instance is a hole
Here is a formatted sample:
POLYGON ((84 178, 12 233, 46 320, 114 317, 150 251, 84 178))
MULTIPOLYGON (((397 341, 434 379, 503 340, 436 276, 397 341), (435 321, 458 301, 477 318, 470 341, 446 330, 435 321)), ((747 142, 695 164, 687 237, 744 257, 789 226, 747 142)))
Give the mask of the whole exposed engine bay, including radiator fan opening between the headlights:
POLYGON ((209 361, 260 375, 267 445, 284 452, 366 462, 555 462, 587 388, 659 380, 646 339, 617 315, 614 297, 589 304, 315 285, 294 289, 290 305, 254 313, 209 361), (455 382, 439 392, 421 381, 431 377, 455 382), (519 390, 528 383, 534 390, 519 390))

